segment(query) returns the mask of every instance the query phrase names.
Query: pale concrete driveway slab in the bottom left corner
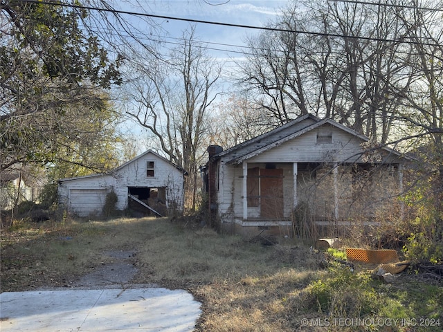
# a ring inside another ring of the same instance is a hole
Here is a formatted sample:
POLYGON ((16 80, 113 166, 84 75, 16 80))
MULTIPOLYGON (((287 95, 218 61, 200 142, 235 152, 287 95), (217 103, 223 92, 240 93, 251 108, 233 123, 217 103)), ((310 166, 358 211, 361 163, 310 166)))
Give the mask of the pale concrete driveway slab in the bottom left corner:
POLYGON ((165 288, 73 289, 0 294, 1 332, 192 331, 200 303, 165 288))

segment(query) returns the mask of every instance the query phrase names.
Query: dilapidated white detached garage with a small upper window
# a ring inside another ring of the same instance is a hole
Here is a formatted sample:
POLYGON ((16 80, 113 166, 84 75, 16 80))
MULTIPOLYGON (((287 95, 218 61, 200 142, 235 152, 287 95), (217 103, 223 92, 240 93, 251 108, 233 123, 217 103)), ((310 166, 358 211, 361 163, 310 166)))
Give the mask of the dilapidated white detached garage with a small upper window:
POLYGON ((109 192, 117 196, 116 209, 164 216, 183 211, 184 169, 152 150, 106 174, 58 181, 59 203, 78 216, 102 212, 109 192))

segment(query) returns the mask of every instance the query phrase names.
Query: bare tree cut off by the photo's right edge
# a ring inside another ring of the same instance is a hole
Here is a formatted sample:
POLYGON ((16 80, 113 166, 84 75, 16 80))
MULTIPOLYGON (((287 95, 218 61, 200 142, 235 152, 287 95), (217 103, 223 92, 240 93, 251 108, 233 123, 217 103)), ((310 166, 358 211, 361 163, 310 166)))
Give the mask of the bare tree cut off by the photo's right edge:
MULTIPOLYGON (((408 67, 408 89, 398 89, 403 111, 402 123, 412 128, 411 134, 421 137, 423 161, 434 181, 432 196, 438 211, 443 210, 443 5, 432 10, 401 8, 399 19, 413 42, 408 67)), ((428 4, 431 5, 431 4, 428 4)), ((422 5, 423 6, 423 5, 422 5)), ((417 151, 417 149, 416 149, 417 151)))

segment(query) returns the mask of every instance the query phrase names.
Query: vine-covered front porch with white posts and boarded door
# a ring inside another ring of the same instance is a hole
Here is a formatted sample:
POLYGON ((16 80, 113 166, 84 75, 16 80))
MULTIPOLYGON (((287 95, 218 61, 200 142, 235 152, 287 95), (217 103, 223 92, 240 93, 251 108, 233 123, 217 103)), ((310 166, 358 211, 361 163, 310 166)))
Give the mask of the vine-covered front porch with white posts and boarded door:
POLYGON ((241 183, 232 221, 237 225, 290 226, 293 219, 300 219, 294 216, 298 208, 313 225, 348 226, 351 219, 364 215, 371 220, 374 209, 392 205, 389 198, 402 191, 403 169, 399 165, 245 160, 236 174, 241 183))

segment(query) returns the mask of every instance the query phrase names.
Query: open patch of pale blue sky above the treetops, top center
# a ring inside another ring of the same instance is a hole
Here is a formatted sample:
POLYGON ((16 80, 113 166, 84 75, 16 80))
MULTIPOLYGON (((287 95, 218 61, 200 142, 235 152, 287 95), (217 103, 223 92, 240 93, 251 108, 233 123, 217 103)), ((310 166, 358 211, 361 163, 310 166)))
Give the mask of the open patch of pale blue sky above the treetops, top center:
MULTIPOLYGON (((136 0, 130 2, 135 3, 136 0)), ((138 0, 139 6, 134 6, 123 1, 116 1, 115 8, 134 12, 146 12, 153 15, 215 21, 228 24, 241 24, 246 26, 265 26, 270 20, 275 20, 282 8, 286 7, 289 0, 138 0), (142 9, 143 8, 143 9, 142 9)), ((132 18, 134 22, 142 19, 132 18)), ((161 34, 167 36, 166 41, 177 42, 183 30, 190 26, 189 22, 154 19, 161 28, 161 34)), ((223 50, 239 50, 235 46, 244 46, 246 35, 257 35, 260 30, 219 26, 212 24, 195 24, 197 39, 208 44, 209 48, 223 50), (220 45, 226 44, 226 45, 220 45)), ((170 44, 173 46, 173 44, 170 44)), ((240 57, 234 52, 210 50, 217 57, 240 57)))

